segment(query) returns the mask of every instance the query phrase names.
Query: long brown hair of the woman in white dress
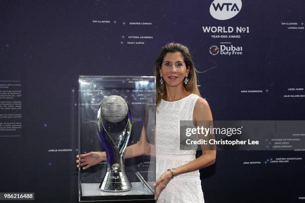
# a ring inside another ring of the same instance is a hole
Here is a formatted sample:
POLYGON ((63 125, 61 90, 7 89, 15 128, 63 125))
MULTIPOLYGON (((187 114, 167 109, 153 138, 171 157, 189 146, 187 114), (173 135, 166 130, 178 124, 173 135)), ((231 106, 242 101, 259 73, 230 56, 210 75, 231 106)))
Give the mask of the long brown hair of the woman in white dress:
POLYGON ((192 60, 188 48, 185 45, 171 42, 165 44, 162 47, 161 53, 159 54, 159 56, 157 56, 156 60, 154 61, 153 74, 156 77, 156 106, 161 102, 161 98, 164 95, 164 93, 166 93, 165 85, 161 85, 159 82, 160 80, 159 69, 161 68, 164 56, 167 53, 175 53, 175 52, 180 52, 183 55, 183 59, 186 67, 188 66, 190 67, 188 74, 188 83, 186 85, 183 83, 185 90, 201 97, 197 87, 196 72, 198 71, 195 68, 195 64, 192 60))

